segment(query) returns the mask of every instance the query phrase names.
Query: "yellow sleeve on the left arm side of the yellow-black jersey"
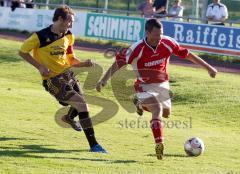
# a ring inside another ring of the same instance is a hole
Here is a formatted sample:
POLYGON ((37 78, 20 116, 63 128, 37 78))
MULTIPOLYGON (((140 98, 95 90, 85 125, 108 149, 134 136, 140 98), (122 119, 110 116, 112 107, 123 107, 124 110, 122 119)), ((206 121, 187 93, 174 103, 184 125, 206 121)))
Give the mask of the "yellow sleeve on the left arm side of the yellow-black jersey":
POLYGON ((38 48, 40 46, 40 41, 36 33, 33 33, 27 40, 22 44, 20 51, 23 53, 29 53, 34 48, 38 48))

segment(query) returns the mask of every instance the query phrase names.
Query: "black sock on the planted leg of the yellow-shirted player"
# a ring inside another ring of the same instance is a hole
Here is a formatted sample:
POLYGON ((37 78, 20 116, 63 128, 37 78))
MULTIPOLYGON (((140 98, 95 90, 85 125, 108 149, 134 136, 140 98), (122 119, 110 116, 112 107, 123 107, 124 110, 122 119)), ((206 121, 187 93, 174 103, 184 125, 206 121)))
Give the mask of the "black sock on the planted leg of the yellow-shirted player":
POLYGON ((83 128, 83 131, 84 131, 86 137, 87 137, 89 146, 90 147, 95 146, 96 144, 98 144, 98 142, 94 135, 92 120, 89 117, 89 113, 88 112, 79 112, 78 115, 79 115, 80 124, 83 128))

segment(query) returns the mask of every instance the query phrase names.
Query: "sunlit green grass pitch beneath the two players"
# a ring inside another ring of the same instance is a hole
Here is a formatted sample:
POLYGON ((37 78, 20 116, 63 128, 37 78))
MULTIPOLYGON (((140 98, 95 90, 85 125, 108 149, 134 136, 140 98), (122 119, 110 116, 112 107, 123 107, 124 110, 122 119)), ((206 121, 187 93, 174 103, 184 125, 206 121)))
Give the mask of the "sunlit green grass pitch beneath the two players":
MULTIPOLYGON (((20 42, 0 39, 0 45, 1 174, 240 173, 239 75, 219 73, 211 79, 202 69, 170 66, 173 113, 166 122, 163 161, 154 156, 152 133, 146 125, 150 114, 139 118, 127 112, 119 105, 124 99, 117 102, 109 84, 102 94, 93 86, 84 89, 87 99, 102 97, 118 107, 112 119, 95 126, 98 141, 109 154, 93 154, 83 133, 56 124, 54 114, 60 105, 43 90, 38 72, 17 56, 20 42), (200 157, 187 157, 183 150, 192 136, 205 142, 200 157)), ((104 69, 113 61, 100 53, 76 53, 94 58, 104 69)), ((86 73, 81 74, 82 85, 85 79, 86 73)), ((118 92, 125 98, 129 93, 122 88, 118 92)), ((124 102, 132 107, 128 99, 124 102)), ((97 105, 89 107, 91 115, 101 110, 97 105)))

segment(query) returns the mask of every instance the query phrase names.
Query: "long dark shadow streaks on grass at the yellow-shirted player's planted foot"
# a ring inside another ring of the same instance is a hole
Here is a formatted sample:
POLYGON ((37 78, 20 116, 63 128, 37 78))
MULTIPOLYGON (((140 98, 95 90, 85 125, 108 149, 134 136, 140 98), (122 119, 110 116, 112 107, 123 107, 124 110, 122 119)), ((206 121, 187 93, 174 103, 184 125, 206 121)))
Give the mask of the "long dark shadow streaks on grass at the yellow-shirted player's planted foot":
MULTIPOLYGON (((49 146, 49 145, 46 145, 49 146)), ((39 158, 39 159, 66 159, 77 161, 94 161, 94 162, 107 162, 107 163, 136 163, 135 160, 108 160, 99 158, 79 158, 79 157, 64 157, 64 156, 44 156, 42 154, 69 154, 76 152, 89 152, 89 150, 60 150, 48 148, 43 145, 19 145, 18 147, 3 147, 0 146, 0 157, 22 157, 22 158, 39 158), (39 155, 36 155, 39 154, 39 155)), ((90 153, 90 152, 89 152, 90 153)), ((102 154, 105 155, 105 154, 102 154)))

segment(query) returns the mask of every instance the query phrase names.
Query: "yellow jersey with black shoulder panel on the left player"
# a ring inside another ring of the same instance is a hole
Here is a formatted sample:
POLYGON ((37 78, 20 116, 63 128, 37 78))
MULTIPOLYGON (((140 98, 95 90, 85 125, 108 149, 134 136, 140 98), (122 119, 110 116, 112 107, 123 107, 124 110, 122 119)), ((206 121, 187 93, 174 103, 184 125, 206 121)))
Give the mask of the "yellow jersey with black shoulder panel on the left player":
POLYGON ((51 70, 48 79, 54 77, 71 66, 74 36, 68 31, 61 37, 51 31, 51 26, 33 33, 21 46, 20 51, 33 51, 33 58, 51 70))

